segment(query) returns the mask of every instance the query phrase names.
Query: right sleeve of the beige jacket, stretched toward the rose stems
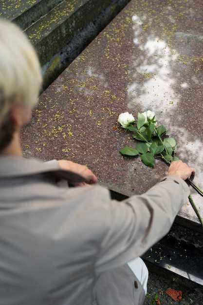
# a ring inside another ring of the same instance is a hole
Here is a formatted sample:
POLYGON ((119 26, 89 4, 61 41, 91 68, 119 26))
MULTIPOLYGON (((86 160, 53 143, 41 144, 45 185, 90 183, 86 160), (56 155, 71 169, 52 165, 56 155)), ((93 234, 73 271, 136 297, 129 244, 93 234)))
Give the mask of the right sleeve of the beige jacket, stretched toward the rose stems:
POLYGON ((167 176, 142 195, 111 200, 102 220, 106 231, 95 262, 96 275, 143 255, 165 236, 188 195, 184 180, 167 176))

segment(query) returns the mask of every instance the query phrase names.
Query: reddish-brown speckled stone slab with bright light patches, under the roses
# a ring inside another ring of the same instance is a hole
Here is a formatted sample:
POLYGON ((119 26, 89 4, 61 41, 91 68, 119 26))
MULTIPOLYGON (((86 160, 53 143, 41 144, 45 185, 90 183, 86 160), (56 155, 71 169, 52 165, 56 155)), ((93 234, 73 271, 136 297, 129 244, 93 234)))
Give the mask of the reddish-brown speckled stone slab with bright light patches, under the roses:
MULTIPOLYGON (((99 181, 126 195, 164 177, 119 149, 135 143, 121 112, 155 111, 177 139, 180 157, 203 188, 203 2, 131 0, 109 26, 40 96, 23 134, 24 155, 88 165, 99 181)), ((203 215, 203 200, 194 195, 203 215)), ((197 222, 187 203, 181 217, 197 222)))

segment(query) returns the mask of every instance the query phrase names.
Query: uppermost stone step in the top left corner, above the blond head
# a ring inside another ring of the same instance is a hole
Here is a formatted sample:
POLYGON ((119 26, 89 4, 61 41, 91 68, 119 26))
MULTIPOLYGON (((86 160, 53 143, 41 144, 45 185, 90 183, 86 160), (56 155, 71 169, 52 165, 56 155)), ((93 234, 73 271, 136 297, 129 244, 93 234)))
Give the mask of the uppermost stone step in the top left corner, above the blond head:
POLYGON ((9 19, 22 30, 51 11, 62 0, 1 0, 0 16, 9 19))

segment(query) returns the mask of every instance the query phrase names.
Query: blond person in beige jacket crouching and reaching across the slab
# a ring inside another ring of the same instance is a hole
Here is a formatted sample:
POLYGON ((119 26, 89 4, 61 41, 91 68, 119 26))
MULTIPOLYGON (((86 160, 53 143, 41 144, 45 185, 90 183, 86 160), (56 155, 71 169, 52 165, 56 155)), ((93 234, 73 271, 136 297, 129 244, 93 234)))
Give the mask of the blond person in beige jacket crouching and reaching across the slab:
POLYGON ((0 304, 143 304, 139 256, 170 229, 194 169, 173 162, 159 184, 118 203, 85 166, 23 158, 41 82, 30 42, 0 20, 0 304))

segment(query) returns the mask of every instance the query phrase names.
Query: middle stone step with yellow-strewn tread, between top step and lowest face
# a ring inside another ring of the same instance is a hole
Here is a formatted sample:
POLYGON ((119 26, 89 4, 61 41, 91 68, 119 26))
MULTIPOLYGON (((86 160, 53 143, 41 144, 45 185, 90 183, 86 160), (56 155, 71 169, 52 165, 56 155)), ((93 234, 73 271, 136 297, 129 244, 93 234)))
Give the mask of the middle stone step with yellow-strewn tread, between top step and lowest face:
POLYGON ((97 0, 64 0, 26 29, 25 33, 35 46, 41 64, 48 62, 111 2, 111 0, 99 3, 97 0))

